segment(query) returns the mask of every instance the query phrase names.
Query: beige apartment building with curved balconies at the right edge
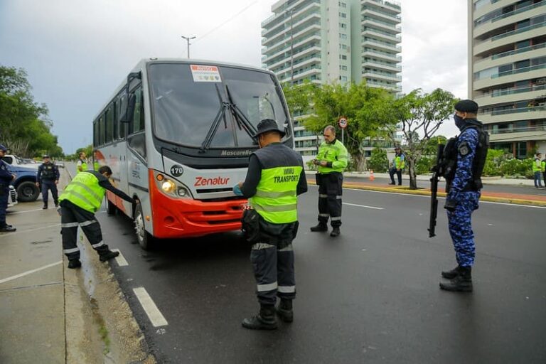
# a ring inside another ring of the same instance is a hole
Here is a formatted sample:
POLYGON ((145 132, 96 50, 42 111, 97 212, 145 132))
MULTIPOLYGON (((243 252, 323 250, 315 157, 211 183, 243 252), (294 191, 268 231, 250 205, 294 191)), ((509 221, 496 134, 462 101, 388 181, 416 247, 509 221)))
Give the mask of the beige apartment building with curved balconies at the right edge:
POLYGON ((546 0, 469 0, 469 96, 493 148, 546 152, 546 0))

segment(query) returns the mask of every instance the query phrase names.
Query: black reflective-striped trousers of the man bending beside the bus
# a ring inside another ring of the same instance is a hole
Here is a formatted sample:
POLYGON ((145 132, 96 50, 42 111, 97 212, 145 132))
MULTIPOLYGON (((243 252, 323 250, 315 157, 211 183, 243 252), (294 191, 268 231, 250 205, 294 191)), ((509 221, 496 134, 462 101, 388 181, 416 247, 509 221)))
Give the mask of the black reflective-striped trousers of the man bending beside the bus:
POLYGON ((94 213, 77 207, 68 200, 63 200, 60 207, 60 234, 63 235, 63 252, 69 260, 80 259, 80 248, 77 247, 77 227, 80 226, 93 249, 99 255, 109 251, 102 241, 100 224, 94 213))

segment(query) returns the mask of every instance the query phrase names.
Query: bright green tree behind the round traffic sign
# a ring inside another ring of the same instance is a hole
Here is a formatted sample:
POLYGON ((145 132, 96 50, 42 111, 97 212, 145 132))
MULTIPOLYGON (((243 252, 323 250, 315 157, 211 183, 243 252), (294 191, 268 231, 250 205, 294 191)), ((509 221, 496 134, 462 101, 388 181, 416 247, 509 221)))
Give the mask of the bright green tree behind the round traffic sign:
POLYGON ((395 124, 394 114, 390 112, 394 97, 387 90, 368 87, 365 82, 356 85, 322 85, 316 87, 312 95, 314 114, 304 122, 313 132, 321 132, 327 125, 338 129, 338 119, 346 117, 345 146, 357 171, 364 168, 364 155, 361 148, 363 139, 378 137, 385 127, 395 124))

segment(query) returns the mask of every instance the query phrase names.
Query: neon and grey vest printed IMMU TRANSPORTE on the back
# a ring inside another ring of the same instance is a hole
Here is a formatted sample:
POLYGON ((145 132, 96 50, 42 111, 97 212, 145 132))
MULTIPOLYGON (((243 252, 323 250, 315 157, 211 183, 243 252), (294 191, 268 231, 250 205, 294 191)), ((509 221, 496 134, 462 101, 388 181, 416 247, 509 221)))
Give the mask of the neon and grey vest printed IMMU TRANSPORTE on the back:
POLYGON ((262 176, 250 205, 268 223, 298 220, 296 186, 303 170, 299 155, 282 144, 270 144, 253 154, 262 165, 262 176))

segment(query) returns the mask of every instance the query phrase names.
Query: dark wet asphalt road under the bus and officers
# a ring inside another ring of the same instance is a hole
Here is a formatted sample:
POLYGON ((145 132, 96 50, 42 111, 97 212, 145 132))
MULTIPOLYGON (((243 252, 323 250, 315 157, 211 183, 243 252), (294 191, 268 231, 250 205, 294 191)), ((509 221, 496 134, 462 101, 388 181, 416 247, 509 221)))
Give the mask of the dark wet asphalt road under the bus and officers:
POLYGON ((97 216, 129 263, 112 269, 159 363, 545 363, 545 208, 481 203, 474 292, 455 294, 438 287, 455 261, 443 210, 428 238, 429 198, 345 190, 343 201, 333 240, 309 232, 316 187, 300 199, 295 319, 270 332, 240 325, 258 309, 240 235, 144 252, 128 218, 97 216), (168 325, 151 325, 137 287, 168 325))

